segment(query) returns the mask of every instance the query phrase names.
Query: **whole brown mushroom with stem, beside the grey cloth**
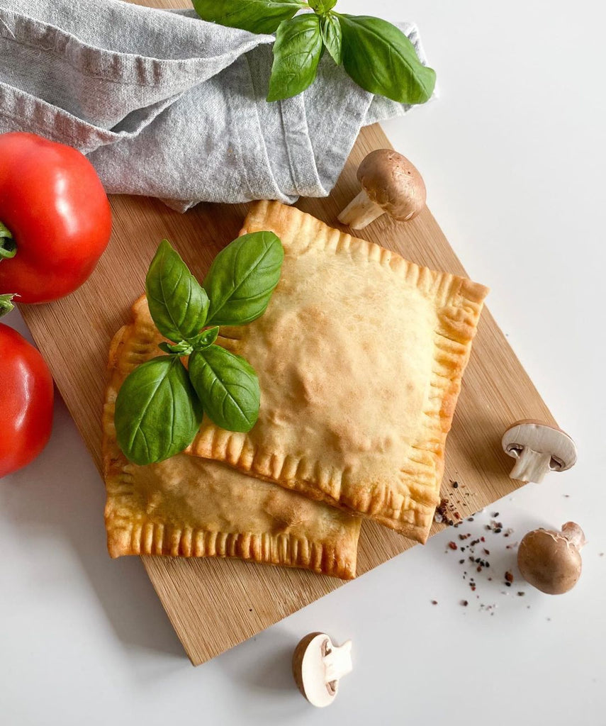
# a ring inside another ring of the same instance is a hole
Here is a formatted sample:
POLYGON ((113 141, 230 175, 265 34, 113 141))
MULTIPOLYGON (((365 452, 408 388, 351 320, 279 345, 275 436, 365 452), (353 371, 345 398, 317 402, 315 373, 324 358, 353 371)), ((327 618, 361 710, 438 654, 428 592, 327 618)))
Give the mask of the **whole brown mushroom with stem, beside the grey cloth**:
POLYGON ((377 149, 358 167, 361 192, 338 216, 342 224, 362 229, 383 213, 398 221, 413 219, 425 206, 422 176, 409 160, 393 149, 377 149))

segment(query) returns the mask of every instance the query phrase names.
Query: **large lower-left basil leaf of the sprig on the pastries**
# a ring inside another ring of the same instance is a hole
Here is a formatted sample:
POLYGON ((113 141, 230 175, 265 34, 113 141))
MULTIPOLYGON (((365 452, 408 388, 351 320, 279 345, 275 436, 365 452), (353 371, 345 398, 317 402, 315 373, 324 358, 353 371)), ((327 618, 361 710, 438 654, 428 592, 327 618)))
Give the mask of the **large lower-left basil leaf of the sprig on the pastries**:
POLYGON ((202 421, 187 370, 177 356, 159 356, 135 368, 115 401, 115 430, 123 454, 139 465, 182 452, 202 421))

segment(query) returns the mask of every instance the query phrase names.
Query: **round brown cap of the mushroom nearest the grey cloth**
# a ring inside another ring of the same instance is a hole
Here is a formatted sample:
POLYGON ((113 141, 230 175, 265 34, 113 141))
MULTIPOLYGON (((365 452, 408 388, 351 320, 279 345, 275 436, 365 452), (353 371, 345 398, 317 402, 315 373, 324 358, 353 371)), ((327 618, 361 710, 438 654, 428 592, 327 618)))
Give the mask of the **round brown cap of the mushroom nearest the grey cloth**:
POLYGON ((393 149, 377 149, 358 167, 358 181, 369 200, 393 219, 413 219, 425 206, 425 182, 409 160, 393 149))

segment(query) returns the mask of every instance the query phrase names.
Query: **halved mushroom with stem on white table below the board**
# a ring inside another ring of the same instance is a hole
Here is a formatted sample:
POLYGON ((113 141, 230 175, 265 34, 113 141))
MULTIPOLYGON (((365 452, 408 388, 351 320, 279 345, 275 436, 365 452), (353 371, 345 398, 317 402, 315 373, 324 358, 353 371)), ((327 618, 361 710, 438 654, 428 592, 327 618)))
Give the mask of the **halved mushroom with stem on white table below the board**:
POLYGON ((313 706, 329 706, 339 680, 351 672, 351 640, 333 645, 326 633, 310 633, 292 655, 292 674, 303 696, 313 706))

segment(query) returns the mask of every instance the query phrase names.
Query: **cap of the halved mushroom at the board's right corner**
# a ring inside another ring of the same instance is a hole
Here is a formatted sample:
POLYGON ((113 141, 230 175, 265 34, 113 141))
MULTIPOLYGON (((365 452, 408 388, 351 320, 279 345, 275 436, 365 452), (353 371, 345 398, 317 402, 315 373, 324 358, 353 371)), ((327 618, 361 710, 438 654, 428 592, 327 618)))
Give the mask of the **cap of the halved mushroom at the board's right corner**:
POLYGON ((533 451, 551 454, 549 468, 565 471, 576 463, 576 444, 568 433, 557 426, 531 418, 513 423, 503 434, 503 451, 517 458, 525 446, 533 451))

